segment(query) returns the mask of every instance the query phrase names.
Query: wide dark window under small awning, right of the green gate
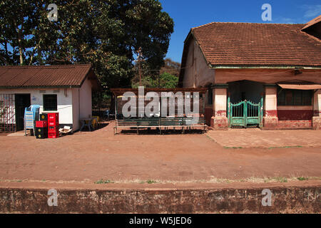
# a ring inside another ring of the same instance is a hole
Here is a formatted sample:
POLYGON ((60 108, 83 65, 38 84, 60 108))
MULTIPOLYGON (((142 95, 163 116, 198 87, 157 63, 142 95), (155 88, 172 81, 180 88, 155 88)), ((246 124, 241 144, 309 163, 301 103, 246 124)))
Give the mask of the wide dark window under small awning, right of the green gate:
POLYGON ((279 88, 277 105, 312 105, 312 90, 287 90, 279 88))

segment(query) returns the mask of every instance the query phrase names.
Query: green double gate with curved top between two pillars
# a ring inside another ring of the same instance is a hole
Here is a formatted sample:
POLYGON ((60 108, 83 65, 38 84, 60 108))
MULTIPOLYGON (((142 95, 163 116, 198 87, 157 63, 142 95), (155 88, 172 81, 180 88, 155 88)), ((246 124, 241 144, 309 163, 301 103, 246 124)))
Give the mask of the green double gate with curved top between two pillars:
POLYGON ((263 126, 263 98, 260 103, 252 103, 249 100, 240 103, 231 103, 228 98, 228 122, 230 128, 263 126))

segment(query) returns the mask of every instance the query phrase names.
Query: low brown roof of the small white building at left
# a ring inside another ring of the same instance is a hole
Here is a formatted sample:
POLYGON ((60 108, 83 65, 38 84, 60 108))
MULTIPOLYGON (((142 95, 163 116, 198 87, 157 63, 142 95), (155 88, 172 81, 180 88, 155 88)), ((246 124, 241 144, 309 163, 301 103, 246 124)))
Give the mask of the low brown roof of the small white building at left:
POLYGON ((80 87, 88 75, 96 79, 91 64, 0 66, 0 88, 80 87))

